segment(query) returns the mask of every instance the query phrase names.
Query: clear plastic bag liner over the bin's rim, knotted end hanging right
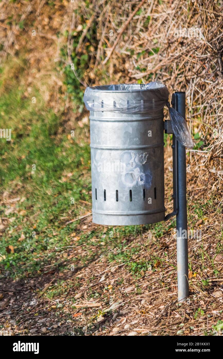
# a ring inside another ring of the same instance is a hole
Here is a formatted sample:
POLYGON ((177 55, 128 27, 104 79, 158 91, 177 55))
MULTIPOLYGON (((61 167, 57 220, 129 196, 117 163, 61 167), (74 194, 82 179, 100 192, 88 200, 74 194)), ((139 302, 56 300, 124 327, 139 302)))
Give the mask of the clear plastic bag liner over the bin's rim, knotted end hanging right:
POLYGON ((185 147, 193 148, 194 143, 186 121, 168 102, 168 88, 160 81, 148 84, 119 84, 87 87, 84 104, 89 111, 153 114, 167 105, 170 122, 176 139, 185 147))

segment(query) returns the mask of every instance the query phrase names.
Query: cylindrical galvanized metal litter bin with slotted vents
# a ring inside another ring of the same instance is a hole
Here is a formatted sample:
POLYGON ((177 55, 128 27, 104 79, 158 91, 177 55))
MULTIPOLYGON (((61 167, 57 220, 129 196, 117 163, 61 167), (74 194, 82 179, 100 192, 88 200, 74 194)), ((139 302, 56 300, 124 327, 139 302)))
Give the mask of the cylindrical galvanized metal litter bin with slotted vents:
POLYGON ((155 93, 141 91, 140 85, 131 92, 108 88, 92 89, 101 104, 100 111, 90 111, 93 222, 160 222, 165 218, 163 107, 156 109, 155 93), (149 101, 152 115, 145 106, 149 101), (124 113, 115 111, 120 102, 124 113), (132 102, 137 111, 126 113, 132 102))

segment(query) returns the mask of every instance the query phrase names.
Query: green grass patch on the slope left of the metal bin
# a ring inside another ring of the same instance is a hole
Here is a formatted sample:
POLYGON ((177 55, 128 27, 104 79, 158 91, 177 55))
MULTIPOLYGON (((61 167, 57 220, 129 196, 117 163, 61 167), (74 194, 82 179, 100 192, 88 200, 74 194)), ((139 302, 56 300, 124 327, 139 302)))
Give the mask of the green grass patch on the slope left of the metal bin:
POLYGON ((80 200, 90 204, 89 145, 80 129, 74 137, 63 131, 59 135, 60 118, 45 107, 38 93, 35 96, 34 104, 23 88, 12 87, 0 97, 1 128, 11 129, 11 141, 0 140, 5 199, 0 211, 10 220, 0 241, 0 264, 11 275, 36 274, 44 263, 56 259, 58 253, 51 249, 55 243, 67 246, 67 236, 77 225, 62 228, 62 224, 90 209, 79 204, 80 200), (10 202, 16 197, 20 199, 10 202), (6 252, 9 245, 15 253, 6 252))

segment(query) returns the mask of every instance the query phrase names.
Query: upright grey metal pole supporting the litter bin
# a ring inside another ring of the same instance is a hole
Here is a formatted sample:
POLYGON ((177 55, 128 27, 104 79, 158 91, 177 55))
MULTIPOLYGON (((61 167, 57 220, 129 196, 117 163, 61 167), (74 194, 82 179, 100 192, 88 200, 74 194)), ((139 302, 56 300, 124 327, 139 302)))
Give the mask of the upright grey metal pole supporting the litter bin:
MULTIPOLYGON (((185 92, 175 92, 172 96, 172 105, 184 118, 185 92)), ((177 146, 177 196, 178 213, 176 215, 176 249, 177 249, 177 281, 178 301, 185 302, 189 297, 188 283, 188 234, 186 209, 186 149, 178 141, 177 146)))

